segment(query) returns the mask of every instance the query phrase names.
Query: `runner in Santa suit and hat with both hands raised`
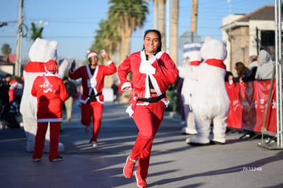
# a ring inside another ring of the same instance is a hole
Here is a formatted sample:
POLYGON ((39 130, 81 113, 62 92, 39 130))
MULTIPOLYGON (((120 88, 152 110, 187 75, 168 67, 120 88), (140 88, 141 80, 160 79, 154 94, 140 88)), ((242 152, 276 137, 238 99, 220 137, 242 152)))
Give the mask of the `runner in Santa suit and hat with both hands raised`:
POLYGON ((81 124, 85 125, 87 134, 91 131, 91 121, 94 125, 93 135, 90 144, 97 146, 97 137, 100 131, 101 120, 103 115, 103 83, 104 77, 114 74, 117 69, 115 64, 109 58, 106 51, 102 51, 101 55, 107 58, 107 66, 98 65, 98 53, 91 51, 87 55, 90 64, 81 66, 75 70, 76 63, 72 62, 69 70, 70 79, 81 78, 83 85, 83 95, 79 100, 81 103, 81 124))

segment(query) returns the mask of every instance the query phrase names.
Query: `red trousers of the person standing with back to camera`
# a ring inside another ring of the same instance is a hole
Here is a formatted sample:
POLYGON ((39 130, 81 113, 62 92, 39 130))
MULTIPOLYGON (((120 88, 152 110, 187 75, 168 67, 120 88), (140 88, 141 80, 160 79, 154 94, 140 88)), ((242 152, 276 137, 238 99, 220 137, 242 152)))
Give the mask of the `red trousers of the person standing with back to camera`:
MULTIPOLYGON (((36 146, 33 152, 33 159, 41 159, 44 148, 45 135, 49 122, 38 122, 36 131, 36 146)), ((61 122, 50 122, 50 146, 49 160, 53 160, 59 155, 58 144, 61 122)))

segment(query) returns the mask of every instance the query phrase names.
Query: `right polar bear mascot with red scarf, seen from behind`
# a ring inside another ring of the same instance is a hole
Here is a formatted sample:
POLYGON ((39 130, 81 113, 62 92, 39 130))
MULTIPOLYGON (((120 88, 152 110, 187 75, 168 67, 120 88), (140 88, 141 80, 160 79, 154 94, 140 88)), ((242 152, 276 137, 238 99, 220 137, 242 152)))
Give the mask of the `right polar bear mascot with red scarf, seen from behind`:
POLYGON ((220 40, 206 37, 200 53, 204 62, 198 70, 193 71, 186 66, 189 75, 196 80, 191 105, 196 122, 195 137, 189 137, 186 142, 191 145, 207 145, 226 143, 226 126, 230 110, 230 100, 226 92, 224 77, 226 69, 226 44, 220 40), (213 122, 213 137, 210 137, 211 122, 213 122))

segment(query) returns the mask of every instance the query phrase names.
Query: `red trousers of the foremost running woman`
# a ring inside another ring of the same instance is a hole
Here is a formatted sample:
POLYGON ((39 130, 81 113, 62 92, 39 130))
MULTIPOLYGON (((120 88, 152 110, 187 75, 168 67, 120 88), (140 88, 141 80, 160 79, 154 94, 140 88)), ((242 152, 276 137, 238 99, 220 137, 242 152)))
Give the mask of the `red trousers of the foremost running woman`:
POLYGON ((147 106, 137 105, 133 113, 133 120, 139 133, 131 152, 131 159, 138 159, 137 171, 142 178, 148 176, 152 142, 163 120, 164 109, 164 103, 159 100, 158 103, 150 103, 147 106))

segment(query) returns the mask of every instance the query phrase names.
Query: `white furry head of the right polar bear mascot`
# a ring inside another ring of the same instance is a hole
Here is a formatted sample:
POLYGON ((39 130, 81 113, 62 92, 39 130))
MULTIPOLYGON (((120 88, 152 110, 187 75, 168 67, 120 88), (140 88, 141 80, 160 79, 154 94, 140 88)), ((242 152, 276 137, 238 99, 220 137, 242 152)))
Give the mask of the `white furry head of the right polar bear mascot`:
POLYGON ((227 56, 226 43, 221 40, 213 39, 211 36, 206 36, 202 49, 200 49, 202 59, 218 59, 225 60, 227 56))

